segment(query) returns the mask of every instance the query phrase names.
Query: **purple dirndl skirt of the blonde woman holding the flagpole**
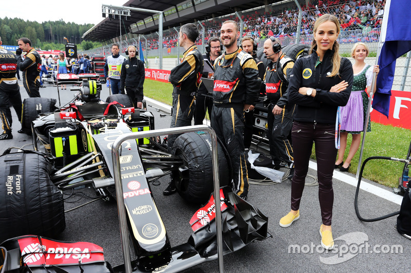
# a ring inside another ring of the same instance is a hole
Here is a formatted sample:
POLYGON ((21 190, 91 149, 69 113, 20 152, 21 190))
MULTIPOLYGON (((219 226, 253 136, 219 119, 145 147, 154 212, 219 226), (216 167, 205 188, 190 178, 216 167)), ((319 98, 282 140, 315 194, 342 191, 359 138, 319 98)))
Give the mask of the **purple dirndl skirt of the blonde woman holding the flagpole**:
POLYGON ((354 132, 364 130, 364 110, 361 92, 351 92, 347 105, 341 108, 341 130, 354 132))

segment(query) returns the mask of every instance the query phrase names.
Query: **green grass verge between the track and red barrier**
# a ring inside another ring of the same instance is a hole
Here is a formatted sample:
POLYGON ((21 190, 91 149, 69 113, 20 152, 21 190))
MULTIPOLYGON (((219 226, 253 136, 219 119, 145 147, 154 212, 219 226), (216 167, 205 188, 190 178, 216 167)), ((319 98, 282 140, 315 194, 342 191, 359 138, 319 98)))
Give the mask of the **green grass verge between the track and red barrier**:
MULTIPOLYGON (((163 103, 172 105, 173 86, 171 83, 155 80, 144 80, 144 95, 163 103)), ((361 135, 362 139, 362 135, 361 135)), ((405 158, 411 140, 410 130, 371 123, 371 132, 365 138, 363 160, 370 156, 388 156, 405 158)), ((348 134, 347 149, 344 159, 347 158, 351 145, 351 135, 348 134)), ((361 146, 360 146, 361 148, 361 146)), ((314 148, 311 157, 315 159, 314 148)), ((349 172, 357 173, 360 151, 354 156, 349 172)), ((389 187, 397 187, 398 179, 402 175, 403 163, 388 160, 371 160, 365 166, 363 177, 389 187)))

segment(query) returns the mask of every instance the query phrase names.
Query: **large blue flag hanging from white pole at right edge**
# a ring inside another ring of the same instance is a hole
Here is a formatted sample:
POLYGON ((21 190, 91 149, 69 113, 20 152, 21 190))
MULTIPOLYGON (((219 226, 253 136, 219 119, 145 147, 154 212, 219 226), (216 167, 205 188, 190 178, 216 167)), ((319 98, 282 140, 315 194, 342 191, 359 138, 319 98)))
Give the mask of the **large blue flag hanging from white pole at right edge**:
POLYGON ((410 0, 387 0, 381 27, 380 73, 372 108, 388 117, 396 60, 411 50, 410 0))

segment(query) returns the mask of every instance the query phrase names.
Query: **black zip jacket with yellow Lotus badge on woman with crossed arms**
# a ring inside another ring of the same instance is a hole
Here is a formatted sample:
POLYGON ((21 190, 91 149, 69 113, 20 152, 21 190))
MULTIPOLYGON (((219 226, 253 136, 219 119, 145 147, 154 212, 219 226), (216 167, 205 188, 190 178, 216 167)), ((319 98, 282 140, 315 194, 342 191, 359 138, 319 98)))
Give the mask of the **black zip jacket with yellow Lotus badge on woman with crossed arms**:
POLYGON ((315 51, 295 61, 288 86, 288 102, 296 104, 294 120, 334 124, 338 107, 347 104, 354 78, 352 65, 347 58, 341 58, 339 74, 327 77, 332 72, 333 54, 334 51, 328 50, 317 67, 315 51), (342 80, 348 82, 347 89, 339 93, 330 92, 331 87, 342 80), (316 89, 315 97, 298 93, 300 87, 316 89))

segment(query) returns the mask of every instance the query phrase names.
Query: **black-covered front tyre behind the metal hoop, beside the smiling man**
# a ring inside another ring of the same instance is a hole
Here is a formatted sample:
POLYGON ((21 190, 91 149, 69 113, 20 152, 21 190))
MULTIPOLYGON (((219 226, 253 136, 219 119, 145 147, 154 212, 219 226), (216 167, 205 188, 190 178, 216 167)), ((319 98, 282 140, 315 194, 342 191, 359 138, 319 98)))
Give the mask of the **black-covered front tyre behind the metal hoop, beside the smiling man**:
MULTIPOLYGON (((177 137, 172 154, 183 159, 176 188, 190 203, 205 203, 214 189, 211 137, 203 131, 185 133, 177 137), (181 172, 181 168, 185 169, 181 172)), ((227 153, 218 143, 218 170, 220 187, 231 182, 227 153)))

